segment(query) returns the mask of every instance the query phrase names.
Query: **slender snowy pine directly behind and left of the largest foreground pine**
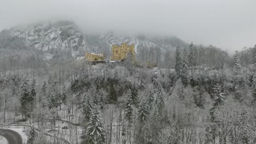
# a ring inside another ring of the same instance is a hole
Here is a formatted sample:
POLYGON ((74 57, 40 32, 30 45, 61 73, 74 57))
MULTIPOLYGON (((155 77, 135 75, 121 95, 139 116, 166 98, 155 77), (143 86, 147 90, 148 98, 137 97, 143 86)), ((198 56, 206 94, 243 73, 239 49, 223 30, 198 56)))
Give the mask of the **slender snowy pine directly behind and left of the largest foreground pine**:
POLYGON ((90 100, 90 92, 86 92, 84 94, 84 99, 83 99, 83 111, 84 111, 84 115, 85 115, 85 119, 89 120, 91 113, 92 113, 92 104, 91 104, 91 100, 90 100))

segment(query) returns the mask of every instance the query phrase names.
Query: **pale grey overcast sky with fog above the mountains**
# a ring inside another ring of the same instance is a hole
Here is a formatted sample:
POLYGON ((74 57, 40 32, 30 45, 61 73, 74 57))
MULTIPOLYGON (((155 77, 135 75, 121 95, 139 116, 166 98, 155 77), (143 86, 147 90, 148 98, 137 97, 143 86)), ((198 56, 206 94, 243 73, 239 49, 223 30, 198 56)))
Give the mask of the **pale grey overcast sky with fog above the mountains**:
POLYGON ((255 0, 0 0, 0 30, 72 19, 85 33, 177 35, 232 52, 256 44, 255 0))

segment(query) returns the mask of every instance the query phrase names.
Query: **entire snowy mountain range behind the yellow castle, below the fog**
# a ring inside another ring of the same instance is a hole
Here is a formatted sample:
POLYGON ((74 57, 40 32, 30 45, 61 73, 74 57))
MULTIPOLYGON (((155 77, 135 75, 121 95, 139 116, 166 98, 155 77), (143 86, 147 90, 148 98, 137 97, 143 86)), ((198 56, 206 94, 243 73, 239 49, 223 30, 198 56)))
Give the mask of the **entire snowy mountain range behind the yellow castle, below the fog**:
POLYGON ((86 35, 72 21, 44 22, 4 30, 0 32, 0 49, 9 49, 7 45, 12 43, 12 39, 22 41, 25 47, 40 51, 44 56, 53 55, 52 58, 56 60, 74 59, 84 56, 84 52, 104 52, 110 55, 112 44, 135 44, 136 53, 142 49, 156 47, 165 52, 177 45, 185 45, 184 41, 177 37, 147 38, 144 35, 114 35, 112 32, 86 35))

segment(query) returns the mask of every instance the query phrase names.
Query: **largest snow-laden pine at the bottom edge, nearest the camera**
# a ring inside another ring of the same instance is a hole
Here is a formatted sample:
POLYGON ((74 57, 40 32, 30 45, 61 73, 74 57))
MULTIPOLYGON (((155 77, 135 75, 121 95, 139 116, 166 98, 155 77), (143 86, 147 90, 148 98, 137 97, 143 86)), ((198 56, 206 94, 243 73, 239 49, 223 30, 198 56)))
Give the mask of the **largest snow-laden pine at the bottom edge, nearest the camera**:
POLYGON ((88 128, 86 135, 90 137, 92 143, 101 144, 105 142, 104 133, 106 130, 103 129, 103 123, 101 122, 100 112, 98 111, 97 106, 93 107, 92 113, 90 116, 88 128))

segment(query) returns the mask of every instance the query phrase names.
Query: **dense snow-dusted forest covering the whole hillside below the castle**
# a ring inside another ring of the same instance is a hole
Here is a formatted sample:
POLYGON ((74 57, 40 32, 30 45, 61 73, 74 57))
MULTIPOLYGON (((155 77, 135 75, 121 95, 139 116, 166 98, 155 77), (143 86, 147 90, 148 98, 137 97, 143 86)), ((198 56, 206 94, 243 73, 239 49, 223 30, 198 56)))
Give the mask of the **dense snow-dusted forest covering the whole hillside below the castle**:
POLYGON ((140 65, 91 64, 3 38, 0 123, 30 126, 27 143, 256 143, 256 45, 141 44, 140 65))

